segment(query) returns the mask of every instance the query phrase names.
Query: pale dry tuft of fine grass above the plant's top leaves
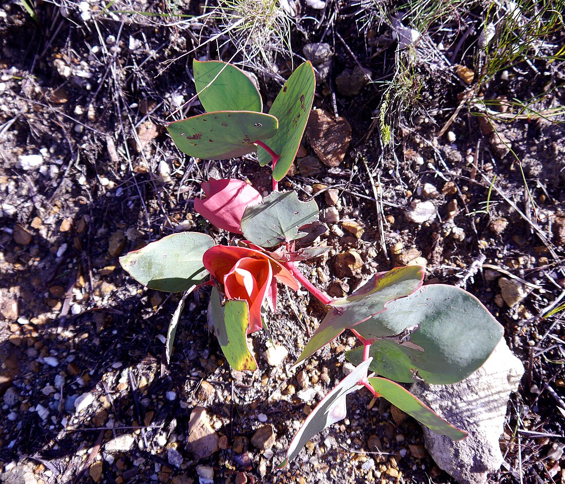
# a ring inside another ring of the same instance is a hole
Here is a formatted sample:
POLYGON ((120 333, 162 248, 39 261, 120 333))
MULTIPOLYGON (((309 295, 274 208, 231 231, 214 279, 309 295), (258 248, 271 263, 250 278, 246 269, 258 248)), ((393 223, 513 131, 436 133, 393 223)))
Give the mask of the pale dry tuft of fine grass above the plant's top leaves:
POLYGON ((280 51, 292 53, 292 19, 278 0, 219 0, 208 19, 215 21, 216 36, 231 42, 246 65, 270 66, 280 51))

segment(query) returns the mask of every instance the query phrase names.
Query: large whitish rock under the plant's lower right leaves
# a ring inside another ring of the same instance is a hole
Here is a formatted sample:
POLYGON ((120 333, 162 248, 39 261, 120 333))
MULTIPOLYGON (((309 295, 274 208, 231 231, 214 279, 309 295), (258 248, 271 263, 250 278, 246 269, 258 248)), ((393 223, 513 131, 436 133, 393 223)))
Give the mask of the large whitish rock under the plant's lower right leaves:
POLYGON ((414 383, 410 391, 469 435, 454 442, 424 429, 425 447, 436 464, 460 484, 484 484, 502 464, 499 439, 510 393, 518 390, 524 365, 504 339, 470 377, 454 385, 414 383))

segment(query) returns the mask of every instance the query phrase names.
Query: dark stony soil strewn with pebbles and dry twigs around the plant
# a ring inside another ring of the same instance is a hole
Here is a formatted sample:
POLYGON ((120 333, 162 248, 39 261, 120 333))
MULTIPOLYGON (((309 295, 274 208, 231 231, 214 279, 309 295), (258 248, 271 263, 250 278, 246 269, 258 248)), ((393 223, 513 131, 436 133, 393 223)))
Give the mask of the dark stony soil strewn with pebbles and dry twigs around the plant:
MULTIPOLYGON (((525 367, 490 482, 563 482, 562 313, 541 318, 565 294, 563 61, 532 54, 480 77, 477 5, 462 20, 475 30, 430 25, 414 54, 428 57, 383 104, 405 30, 364 25, 370 10, 355 5, 314 4, 295 17, 291 45, 294 62, 306 56, 320 73, 316 111, 281 188, 315 198, 332 248, 303 271, 339 297, 371 273, 421 264, 427 282, 475 294, 525 367), (394 103, 406 111, 381 122, 394 103)), ((19 2, 0 7, 0 482, 453 482, 419 425, 383 399, 368 409, 364 391, 274 469, 355 343, 338 338, 288 372, 323 317, 307 293, 281 291, 275 346, 253 336, 251 374, 229 369, 206 292, 191 295, 165 364, 179 295, 144 289, 118 257, 179 230, 227 241, 193 211, 208 177, 270 186, 252 158, 189 158, 163 129, 198 112, 184 104, 184 54, 220 24, 181 16, 202 13, 184 1, 34 6, 36 18, 19 2)), ((197 56, 228 60, 233 39, 218 38, 228 43, 197 56)), ((563 34, 547 41, 563 45, 563 34)), ((247 66, 270 101, 292 71, 290 54, 273 52, 268 68, 260 56, 247 66)))

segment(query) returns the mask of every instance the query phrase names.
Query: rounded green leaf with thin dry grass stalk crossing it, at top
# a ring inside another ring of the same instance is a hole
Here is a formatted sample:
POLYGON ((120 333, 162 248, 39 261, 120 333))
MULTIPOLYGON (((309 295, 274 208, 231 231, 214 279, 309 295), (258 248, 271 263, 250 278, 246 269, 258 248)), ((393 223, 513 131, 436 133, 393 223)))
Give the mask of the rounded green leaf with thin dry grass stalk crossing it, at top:
POLYGON ((236 66, 220 60, 194 59, 192 69, 198 98, 206 111, 263 111, 257 87, 236 66))

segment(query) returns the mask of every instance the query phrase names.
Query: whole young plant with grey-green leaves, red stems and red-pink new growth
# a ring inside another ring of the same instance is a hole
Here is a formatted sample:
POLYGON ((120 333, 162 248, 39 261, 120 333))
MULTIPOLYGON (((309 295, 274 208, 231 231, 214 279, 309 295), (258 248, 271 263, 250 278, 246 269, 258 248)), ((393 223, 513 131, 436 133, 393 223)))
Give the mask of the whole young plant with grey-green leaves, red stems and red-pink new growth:
POLYGON ((459 287, 423 285, 419 266, 374 274, 353 294, 331 299, 294 264, 327 250, 301 243, 313 240, 319 229, 316 202, 277 190, 295 158, 314 100, 310 62, 292 73, 268 114, 262 112, 259 91, 237 67, 195 60, 193 70, 206 112, 167 125, 176 146, 212 160, 257 151, 260 165, 272 162, 273 191, 263 198, 244 181, 211 178, 202 184, 205 198, 195 199, 194 209, 216 227, 237 234, 236 244, 217 245, 207 234, 182 232, 120 258, 141 284, 184 293, 169 325, 167 360, 186 296, 209 285, 210 330, 233 369, 254 371, 257 361, 247 335, 266 324, 266 306, 276 312, 277 284, 294 291, 302 286, 328 312, 294 367, 345 330, 360 346, 346 352, 355 369, 308 415, 280 468, 316 433, 345 418, 346 395, 362 387, 373 395, 371 404, 382 396, 438 434, 466 437, 397 382, 448 385, 481 367, 503 333, 483 304, 459 287))

